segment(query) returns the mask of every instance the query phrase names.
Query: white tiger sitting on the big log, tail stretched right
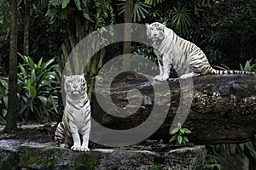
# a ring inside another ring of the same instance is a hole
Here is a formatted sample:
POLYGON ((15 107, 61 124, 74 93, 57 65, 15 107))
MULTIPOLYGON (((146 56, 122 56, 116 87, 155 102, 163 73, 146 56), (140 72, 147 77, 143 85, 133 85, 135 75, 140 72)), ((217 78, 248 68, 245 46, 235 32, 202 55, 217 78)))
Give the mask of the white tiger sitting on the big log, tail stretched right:
POLYGON ((160 75, 154 77, 157 80, 167 80, 172 66, 181 79, 208 74, 255 74, 247 71, 215 70, 201 48, 178 37, 165 24, 154 22, 146 26, 147 37, 153 41, 154 54, 160 66, 160 75))

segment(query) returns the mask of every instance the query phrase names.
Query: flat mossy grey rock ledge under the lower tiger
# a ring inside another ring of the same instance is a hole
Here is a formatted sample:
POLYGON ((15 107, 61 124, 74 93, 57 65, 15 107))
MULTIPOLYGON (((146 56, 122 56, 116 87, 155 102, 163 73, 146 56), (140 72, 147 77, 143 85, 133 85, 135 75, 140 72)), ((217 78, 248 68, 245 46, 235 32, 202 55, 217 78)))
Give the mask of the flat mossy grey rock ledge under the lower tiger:
POLYGON ((0 143, 0 169, 200 170, 207 155, 202 145, 160 154, 112 149, 75 152, 52 144, 10 142, 9 147, 0 143))

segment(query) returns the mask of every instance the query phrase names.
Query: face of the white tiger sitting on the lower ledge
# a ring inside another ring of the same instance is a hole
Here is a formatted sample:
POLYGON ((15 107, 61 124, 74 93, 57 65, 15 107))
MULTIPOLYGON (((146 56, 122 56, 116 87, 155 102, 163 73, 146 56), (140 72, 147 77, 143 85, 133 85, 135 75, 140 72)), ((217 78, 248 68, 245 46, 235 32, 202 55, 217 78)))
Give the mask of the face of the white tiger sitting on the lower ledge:
POLYGON ((86 81, 83 75, 64 76, 65 91, 68 95, 81 95, 86 93, 86 81))

